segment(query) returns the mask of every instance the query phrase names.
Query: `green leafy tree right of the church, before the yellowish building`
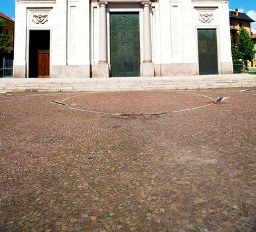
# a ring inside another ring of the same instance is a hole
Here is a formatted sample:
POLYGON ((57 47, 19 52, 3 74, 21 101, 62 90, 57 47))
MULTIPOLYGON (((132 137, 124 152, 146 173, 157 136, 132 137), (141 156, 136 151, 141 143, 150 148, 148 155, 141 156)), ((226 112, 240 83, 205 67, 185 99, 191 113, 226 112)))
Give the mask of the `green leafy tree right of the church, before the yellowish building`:
POLYGON ((249 32, 243 27, 237 38, 237 51, 239 52, 237 55, 243 62, 245 62, 245 60, 253 60, 255 54, 253 40, 249 32))

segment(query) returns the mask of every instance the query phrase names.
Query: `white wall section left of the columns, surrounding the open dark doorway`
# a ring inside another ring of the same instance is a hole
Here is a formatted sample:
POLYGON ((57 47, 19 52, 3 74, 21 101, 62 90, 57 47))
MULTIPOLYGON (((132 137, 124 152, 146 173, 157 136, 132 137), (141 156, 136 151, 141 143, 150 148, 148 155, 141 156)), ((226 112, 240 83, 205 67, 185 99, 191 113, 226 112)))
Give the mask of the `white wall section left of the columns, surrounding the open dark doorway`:
POLYGON ((29 30, 50 30, 50 76, 90 77, 90 2, 17 1, 14 76, 29 76, 29 30), (34 23, 33 15, 48 15, 34 23))

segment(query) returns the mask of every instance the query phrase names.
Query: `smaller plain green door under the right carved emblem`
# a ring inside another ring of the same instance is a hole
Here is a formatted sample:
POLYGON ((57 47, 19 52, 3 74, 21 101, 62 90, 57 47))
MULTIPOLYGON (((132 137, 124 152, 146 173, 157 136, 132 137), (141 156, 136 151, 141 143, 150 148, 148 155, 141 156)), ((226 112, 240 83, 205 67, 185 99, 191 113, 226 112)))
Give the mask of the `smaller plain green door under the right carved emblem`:
POLYGON ((218 74, 216 29, 198 29, 199 74, 218 74))

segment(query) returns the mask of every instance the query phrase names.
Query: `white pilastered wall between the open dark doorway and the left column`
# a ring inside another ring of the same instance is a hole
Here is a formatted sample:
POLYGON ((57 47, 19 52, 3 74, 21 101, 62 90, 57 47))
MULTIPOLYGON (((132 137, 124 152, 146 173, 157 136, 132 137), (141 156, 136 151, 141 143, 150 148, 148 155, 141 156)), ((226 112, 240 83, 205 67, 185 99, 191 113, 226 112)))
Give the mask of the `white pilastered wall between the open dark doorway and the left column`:
POLYGON ((53 78, 90 78, 90 3, 56 0, 52 30, 53 78))

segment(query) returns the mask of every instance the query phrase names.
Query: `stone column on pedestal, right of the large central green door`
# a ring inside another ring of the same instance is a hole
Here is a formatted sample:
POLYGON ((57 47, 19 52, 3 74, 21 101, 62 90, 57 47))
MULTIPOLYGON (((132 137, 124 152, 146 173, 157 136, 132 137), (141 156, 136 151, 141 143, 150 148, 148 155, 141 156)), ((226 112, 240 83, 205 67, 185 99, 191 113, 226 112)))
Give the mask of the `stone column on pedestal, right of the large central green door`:
POLYGON ((141 2, 144 5, 143 10, 143 76, 155 76, 154 64, 152 62, 152 44, 151 44, 151 1, 141 2))

